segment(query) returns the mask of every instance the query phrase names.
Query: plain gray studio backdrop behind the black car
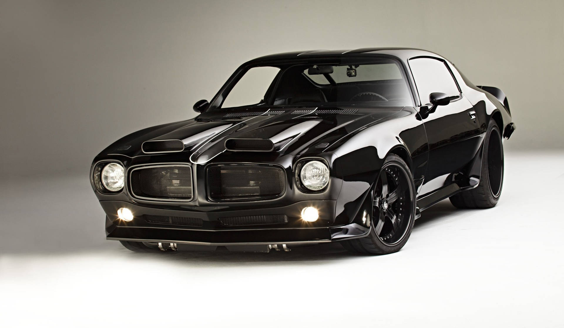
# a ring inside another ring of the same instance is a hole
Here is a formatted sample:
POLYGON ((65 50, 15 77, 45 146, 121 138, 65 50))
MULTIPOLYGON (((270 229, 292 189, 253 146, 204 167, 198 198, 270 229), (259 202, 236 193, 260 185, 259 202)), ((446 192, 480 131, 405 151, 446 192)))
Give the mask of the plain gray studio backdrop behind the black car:
POLYGON ((0 1, 0 174, 83 174, 275 52, 404 46, 502 88, 506 149, 562 147, 564 2, 0 1))

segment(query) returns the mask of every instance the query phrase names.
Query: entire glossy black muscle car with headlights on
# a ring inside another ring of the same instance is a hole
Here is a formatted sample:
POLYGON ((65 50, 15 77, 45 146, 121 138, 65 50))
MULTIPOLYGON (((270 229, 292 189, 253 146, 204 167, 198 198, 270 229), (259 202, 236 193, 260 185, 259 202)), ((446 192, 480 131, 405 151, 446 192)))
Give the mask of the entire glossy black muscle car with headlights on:
POLYGON ((108 240, 133 251, 338 241, 396 252, 440 200, 496 205, 515 129, 499 88, 409 48, 259 57, 193 108, 196 118, 95 157, 108 240))

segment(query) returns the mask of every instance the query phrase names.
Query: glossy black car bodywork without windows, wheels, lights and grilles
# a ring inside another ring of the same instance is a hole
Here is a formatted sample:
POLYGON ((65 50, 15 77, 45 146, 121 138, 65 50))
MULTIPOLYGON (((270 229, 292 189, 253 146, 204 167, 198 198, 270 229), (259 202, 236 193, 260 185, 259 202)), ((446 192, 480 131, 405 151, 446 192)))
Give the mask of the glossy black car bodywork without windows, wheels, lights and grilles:
POLYGON ((198 109, 204 110, 196 118, 145 128, 117 140, 95 157, 90 179, 107 214, 107 238, 214 247, 330 242, 367 236, 371 228, 362 213, 372 206, 371 187, 384 159, 392 153, 403 158, 411 170, 417 214, 478 185, 488 122, 493 119, 504 138, 509 138, 514 130, 508 102, 501 90, 474 86, 453 64, 428 51, 364 48, 260 57, 242 65, 210 104, 221 99, 230 81, 249 65, 343 57, 397 61, 408 81, 412 105, 286 104, 210 110, 202 102, 198 109), (459 86, 460 95, 447 105, 422 104, 419 100, 409 60, 424 57, 444 63, 459 86), (267 139, 274 149, 231 151, 226 147, 230 139, 267 139), (182 140, 184 147, 179 152, 144 152, 144 143, 153 140, 182 140), (297 178, 297 167, 311 158, 326 163, 331 176, 328 186, 316 192, 304 190, 297 178), (121 163, 126 169, 125 188, 120 192, 104 192, 100 187, 96 171, 107 162, 121 163), (212 197, 209 170, 237 164, 281 169, 284 190, 263 198, 212 197), (162 200, 135 194, 131 175, 138 168, 154 165, 190 167, 191 198, 162 200), (301 220, 305 206, 316 207, 320 219, 313 223, 301 220), (131 209, 135 219, 118 220, 116 212, 120 207, 131 209), (285 215, 287 222, 222 223, 222 218, 263 215, 285 215), (146 219, 152 216, 169 221, 146 219), (174 224, 174 218, 194 220, 174 224))

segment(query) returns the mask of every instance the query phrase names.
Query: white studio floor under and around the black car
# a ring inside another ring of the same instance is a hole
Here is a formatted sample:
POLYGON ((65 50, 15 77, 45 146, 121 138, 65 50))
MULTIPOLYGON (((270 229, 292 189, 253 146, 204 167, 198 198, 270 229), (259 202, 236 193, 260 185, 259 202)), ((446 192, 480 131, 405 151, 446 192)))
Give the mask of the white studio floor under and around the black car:
POLYGON ((87 174, 10 180, 0 326, 562 327, 564 153, 505 161, 495 208, 441 202, 385 256, 338 244, 135 254, 104 240, 87 174))

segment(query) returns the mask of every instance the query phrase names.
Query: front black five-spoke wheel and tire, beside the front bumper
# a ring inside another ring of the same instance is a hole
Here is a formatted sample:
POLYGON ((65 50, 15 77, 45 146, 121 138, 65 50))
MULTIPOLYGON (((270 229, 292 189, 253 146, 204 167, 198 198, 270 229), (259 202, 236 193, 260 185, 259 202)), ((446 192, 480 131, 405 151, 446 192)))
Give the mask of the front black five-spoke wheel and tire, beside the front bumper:
POLYGON ((406 245, 415 221, 415 184, 406 162, 395 154, 386 157, 372 188, 370 233, 341 243, 360 254, 397 252, 406 245))

